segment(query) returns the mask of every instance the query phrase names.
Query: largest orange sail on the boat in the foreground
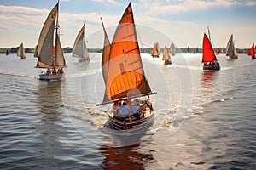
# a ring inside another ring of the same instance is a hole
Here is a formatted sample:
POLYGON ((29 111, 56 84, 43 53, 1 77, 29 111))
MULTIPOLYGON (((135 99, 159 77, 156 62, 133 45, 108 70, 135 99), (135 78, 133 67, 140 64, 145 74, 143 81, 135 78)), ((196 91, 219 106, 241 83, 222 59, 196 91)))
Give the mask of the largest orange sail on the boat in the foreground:
POLYGON ((126 99, 127 96, 138 97, 141 94, 152 94, 152 92, 144 76, 131 3, 129 3, 113 36, 103 104, 116 99, 126 99))

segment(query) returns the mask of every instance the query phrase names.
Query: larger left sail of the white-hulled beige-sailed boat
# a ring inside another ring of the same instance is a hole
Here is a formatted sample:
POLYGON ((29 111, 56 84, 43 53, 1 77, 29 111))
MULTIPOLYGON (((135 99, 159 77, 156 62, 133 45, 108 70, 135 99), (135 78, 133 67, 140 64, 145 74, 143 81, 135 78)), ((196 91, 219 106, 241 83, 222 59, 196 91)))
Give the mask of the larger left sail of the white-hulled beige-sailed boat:
POLYGON ((53 56, 53 37, 55 31, 55 19, 58 13, 58 3, 49 13, 44 22, 43 29, 38 39, 38 45, 35 48, 34 57, 38 57, 38 68, 52 68, 54 65, 53 56))

